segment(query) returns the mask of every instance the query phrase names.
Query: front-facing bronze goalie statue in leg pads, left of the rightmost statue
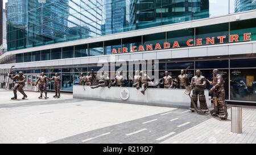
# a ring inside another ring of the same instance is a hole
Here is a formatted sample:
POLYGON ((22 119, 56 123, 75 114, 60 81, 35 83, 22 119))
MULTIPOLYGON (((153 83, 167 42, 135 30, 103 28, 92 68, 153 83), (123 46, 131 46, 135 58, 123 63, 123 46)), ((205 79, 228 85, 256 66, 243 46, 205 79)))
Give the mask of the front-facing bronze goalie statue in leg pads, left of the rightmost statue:
MULTIPOLYGON (((208 112, 208 107, 204 95, 204 88, 206 86, 206 79, 204 76, 201 76, 200 70, 196 70, 196 76, 191 79, 191 87, 193 87, 192 99, 197 107, 197 95, 199 95, 200 110, 203 112, 208 112)), ((193 107, 191 102, 190 110, 194 112, 196 109, 193 107)))

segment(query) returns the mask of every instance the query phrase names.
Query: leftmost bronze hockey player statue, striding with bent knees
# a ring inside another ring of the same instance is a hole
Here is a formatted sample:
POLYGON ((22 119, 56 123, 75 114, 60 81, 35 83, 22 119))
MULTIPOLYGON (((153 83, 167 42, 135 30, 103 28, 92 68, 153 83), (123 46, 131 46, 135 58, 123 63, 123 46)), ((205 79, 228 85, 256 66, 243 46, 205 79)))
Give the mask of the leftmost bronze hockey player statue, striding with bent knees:
POLYGON ((17 99, 17 89, 23 95, 22 99, 26 99, 27 95, 23 91, 23 87, 24 87, 25 82, 26 82, 26 77, 23 76, 23 73, 20 71, 19 75, 15 75, 14 77, 12 77, 11 74, 10 74, 9 77, 11 79, 15 80, 15 85, 13 87, 14 97, 11 98, 11 99, 17 99))

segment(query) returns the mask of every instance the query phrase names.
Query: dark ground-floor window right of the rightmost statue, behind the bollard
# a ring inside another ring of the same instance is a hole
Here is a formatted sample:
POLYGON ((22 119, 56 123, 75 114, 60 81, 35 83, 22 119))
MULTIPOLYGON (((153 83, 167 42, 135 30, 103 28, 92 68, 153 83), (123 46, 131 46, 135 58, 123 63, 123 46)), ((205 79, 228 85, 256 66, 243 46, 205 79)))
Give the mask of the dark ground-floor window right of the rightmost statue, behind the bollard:
POLYGON ((230 99, 256 101, 256 69, 230 70, 230 99))

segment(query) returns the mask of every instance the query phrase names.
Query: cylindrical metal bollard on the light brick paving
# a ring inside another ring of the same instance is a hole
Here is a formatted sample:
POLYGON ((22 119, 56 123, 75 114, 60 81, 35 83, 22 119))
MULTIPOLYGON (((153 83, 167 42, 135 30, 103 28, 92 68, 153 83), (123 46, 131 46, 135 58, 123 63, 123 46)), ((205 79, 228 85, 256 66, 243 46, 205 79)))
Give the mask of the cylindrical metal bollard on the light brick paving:
POLYGON ((231 132, 242 133, 242 107, 231 107, 231 132))

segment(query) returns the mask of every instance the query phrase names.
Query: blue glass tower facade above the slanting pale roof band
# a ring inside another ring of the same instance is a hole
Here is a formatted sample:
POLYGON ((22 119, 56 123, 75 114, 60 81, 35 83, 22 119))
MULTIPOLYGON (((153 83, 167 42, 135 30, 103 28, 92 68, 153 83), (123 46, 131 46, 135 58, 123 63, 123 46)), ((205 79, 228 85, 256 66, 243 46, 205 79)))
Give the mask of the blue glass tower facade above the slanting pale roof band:
MULTIPOLYGON (((253 9, 255 1, 238 0, 9 0, 7 47, 13 51, 253 9)), ((102 49, 96 45, 91 52, 99 55, 102 49)))

